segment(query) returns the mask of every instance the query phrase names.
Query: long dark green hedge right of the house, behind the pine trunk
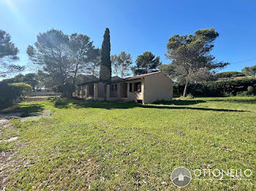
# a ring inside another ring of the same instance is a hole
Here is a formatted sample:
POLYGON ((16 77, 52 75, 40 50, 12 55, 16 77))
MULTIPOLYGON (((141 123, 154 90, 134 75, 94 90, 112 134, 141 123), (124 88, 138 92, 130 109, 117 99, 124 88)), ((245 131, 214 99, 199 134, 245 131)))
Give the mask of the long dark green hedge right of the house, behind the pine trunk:
MULTIPOLYGON (((234 79, 213 82, 198 82, 189 85, 187 93, 195 96, 228 96, 239 95, 249 91, 256 95, 256 78, 234 79), (252 89, 253 88, 253 89, 252 89)), ((175 85, 174 95, 182 95, 184 85, 175 85)))

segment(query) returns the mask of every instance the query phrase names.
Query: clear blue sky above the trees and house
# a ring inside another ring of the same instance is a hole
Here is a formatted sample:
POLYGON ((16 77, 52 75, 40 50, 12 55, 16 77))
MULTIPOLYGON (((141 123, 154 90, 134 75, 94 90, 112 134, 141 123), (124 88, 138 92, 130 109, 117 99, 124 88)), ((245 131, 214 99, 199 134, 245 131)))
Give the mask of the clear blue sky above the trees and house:
POLYGON ((20 64, 29 63, 26 48, 37 34, 51 28, 66 34, 91 37, 101 47, 105 28, 110 28, 111 54, 122 50, 133 61, 145 51, 165 59, 166 44, 174 34, 193 34, 215 28, 219 38, 212 54, 233 64, 222 71, 241 71, 256 65, 256 1, 161 0, 78 1, 0 0, 0 28, 12 36, 20 50, 20 64))

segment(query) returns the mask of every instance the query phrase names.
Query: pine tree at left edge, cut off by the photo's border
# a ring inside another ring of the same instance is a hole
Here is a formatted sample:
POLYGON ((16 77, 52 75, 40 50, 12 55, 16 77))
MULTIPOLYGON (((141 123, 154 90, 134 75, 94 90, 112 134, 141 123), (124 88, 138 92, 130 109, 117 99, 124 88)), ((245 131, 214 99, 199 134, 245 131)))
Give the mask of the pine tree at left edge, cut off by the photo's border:
POLYGON ((18 48, 11 42, 10 34, 0 30, 0 77, 6 77, 24 69, 23 66, 13 64, 18 60, 18 48))

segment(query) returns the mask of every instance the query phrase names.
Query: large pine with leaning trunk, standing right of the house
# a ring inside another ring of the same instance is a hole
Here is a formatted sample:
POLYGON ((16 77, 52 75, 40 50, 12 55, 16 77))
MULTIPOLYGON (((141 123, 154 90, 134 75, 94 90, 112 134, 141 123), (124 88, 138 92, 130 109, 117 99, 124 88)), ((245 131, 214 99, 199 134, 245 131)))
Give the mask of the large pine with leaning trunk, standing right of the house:
POLYGON ((167 58, 172 63, 170 74, 184 84, 183 96, 187 95, 189 83, 207 77, 211 71, 223 68, 229 63, 217 62, 210 54, 214 47, 214 40, 219 34, 214 28, 197 30, 189 36, 172 36, 167 43, 167 58))

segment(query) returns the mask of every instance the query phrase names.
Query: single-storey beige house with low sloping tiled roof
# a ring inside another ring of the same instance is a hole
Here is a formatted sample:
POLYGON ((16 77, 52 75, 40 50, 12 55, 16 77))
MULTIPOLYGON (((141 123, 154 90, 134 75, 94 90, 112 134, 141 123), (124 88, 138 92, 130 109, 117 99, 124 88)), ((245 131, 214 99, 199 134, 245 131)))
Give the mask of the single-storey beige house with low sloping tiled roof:
POLYGON ((111 84, 91 81, 78 85, 78 97, 103 101, 136 101, 150 104, 173 98, 173 81, 161 71, 122 79, 112 77, 111 84), (106 93, 106 95, 105 95, 106 93))

